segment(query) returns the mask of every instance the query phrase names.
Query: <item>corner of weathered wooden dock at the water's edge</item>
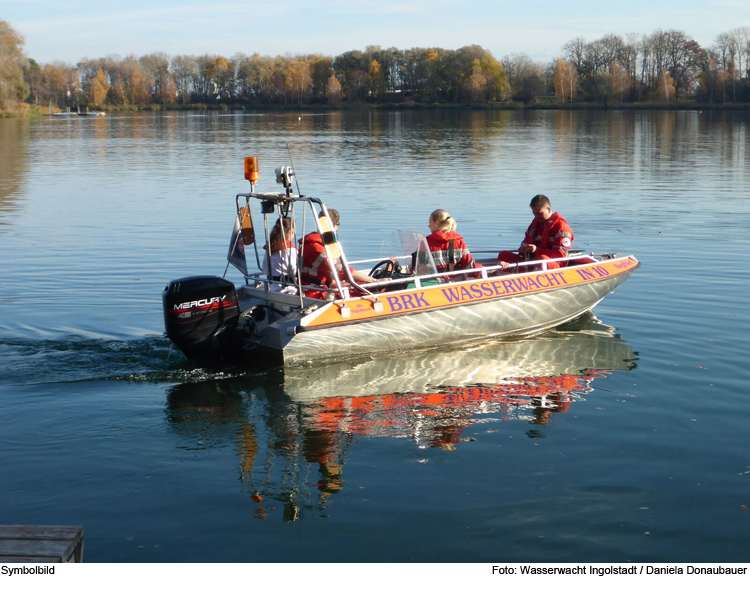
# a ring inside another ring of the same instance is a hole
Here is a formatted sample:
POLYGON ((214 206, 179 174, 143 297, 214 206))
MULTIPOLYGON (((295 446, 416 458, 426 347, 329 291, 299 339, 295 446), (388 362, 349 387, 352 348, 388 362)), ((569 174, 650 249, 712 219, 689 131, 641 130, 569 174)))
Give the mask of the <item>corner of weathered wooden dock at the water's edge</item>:
POLYGON ((82 562, 82 560, 82 527, 0 525, 0 563, 82 562))

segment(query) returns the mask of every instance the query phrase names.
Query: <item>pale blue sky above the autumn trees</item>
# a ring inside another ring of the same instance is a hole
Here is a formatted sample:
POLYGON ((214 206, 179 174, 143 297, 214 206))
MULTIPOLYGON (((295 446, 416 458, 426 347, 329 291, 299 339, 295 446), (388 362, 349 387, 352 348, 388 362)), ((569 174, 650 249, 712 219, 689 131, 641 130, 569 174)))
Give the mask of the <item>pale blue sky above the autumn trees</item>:
POLYGON ((39 63, 154 52, 336 56, 368 45, 481 45, 547 62, 575 37, 677 29, 710 47, 750 27, 750 0, 0 0, 39 63))

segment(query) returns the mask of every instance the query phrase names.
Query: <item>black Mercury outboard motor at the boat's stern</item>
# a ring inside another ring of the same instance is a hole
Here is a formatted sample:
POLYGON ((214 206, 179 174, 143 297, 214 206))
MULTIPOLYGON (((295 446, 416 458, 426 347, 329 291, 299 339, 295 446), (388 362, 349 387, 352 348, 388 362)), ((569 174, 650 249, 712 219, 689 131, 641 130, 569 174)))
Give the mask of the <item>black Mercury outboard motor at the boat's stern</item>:
POLYGON ((189 359, 223 357, 222 342, 240 315, 231 281, 213 276, 171 281, 162 293, 167 336, 189 359))

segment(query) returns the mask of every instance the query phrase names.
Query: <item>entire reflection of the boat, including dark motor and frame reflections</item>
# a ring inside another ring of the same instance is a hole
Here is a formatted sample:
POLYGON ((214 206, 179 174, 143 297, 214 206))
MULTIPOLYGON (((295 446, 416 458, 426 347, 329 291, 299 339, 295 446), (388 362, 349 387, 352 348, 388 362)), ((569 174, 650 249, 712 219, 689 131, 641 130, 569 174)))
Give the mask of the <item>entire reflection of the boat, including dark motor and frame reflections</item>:
POLYGON ((471 427, 484 432, 510 420, 543 437, 550 428, 543 425, 583 400, 594 380, 633 369, 634 359, 614 329, 589 314, 522 341, 180 384, 169 392, 167 420, 191 452, 236 447, 256 518, 280 507, 283 519, 296 520, 328 510, 359 439, 454 450, 480 437, 467 433, 471 427))

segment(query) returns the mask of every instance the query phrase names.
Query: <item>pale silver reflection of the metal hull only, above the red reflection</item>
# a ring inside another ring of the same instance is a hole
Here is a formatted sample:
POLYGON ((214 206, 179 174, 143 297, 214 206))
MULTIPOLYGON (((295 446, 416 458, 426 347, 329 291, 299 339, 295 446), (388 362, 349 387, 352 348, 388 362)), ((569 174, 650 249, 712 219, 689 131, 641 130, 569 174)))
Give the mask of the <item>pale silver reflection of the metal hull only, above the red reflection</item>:
POLYGON ((546 335, 485 341, 471 347, 379 356, 284 371, 284 391, 298 401, 327 396, 429 392, 506 380, 629 370, 633 351, 610 326, 586 314, 546 335))

